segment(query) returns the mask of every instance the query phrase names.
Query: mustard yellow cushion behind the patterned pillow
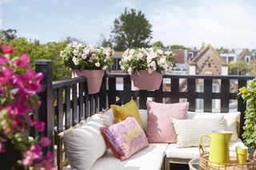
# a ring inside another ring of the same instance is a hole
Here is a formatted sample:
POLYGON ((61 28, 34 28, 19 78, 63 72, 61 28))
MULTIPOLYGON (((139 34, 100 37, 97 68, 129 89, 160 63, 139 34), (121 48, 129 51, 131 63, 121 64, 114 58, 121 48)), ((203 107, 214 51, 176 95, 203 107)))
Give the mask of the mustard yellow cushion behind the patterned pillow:
POLYGON ((143 128, 141 117, 138 114, 138 107, 134 100, 130 100, 128 103, 126 103, 126 105, 123 105, 123 106, 110 105, 110 107, 114 113, 115 123, 123 121, 126 119, 126 117, 129 117, 130 115, 132 115, 134 116, 136 121, 138 121, 138 124, 143 128))

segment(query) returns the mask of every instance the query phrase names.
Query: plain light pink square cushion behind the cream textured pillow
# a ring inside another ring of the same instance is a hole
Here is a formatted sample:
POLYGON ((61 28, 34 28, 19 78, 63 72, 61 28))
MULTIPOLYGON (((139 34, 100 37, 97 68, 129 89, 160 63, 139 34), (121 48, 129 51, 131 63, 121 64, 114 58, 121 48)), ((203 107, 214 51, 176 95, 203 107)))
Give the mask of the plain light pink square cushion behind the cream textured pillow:
POLYGON ((147 101, 147 136, 151 143, 175 143, 171 118, 186 119, 189 103, 162 104, 147 101))

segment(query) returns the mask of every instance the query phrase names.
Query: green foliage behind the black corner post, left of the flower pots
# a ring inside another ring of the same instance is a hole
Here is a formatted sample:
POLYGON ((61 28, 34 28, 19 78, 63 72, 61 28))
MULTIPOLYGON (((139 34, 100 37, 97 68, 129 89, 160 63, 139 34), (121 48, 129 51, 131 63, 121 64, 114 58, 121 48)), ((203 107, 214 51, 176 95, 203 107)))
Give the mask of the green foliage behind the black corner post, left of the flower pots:
POLYGON ((4 42, 13 45, 17 55, 28 53, 30 55, 30 65, 34 69, 34 61, 39 59, 48 59, 53 61, 53 80, 61 80, 70 77, 70 70, 66 69, 60 51, 66 47, 65 42, 48 42, 40 45, 38 41, 28 42, 26 38, 15 38, 10 42, 4 42))

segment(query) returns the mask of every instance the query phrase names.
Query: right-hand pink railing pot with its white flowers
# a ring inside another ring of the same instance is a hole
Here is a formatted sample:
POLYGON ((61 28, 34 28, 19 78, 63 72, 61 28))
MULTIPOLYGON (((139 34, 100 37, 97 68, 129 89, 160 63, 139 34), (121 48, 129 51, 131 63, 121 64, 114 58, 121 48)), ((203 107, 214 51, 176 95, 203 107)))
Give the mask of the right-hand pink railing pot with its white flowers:
POLYGON ((158 47, 126 49, 120 65, 130 74, 135 89, 155 90, 160 88, 162 74, 174 67, 174 57, 158 47))

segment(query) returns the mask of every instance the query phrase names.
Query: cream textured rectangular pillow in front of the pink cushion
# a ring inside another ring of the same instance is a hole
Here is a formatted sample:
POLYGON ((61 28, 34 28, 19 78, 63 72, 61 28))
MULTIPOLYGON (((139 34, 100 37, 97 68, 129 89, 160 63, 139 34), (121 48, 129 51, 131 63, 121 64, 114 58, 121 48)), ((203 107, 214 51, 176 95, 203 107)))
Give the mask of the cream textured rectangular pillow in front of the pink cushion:
MULTIPOLYGON (((199 145, 202 135, 210 135, 213 130, 225 130, 224 117, 210 117, 205 119, 173 119, 177 144, 180 148, 199 145)), ((209 140, 204 141, 209 146, 209 140)))

